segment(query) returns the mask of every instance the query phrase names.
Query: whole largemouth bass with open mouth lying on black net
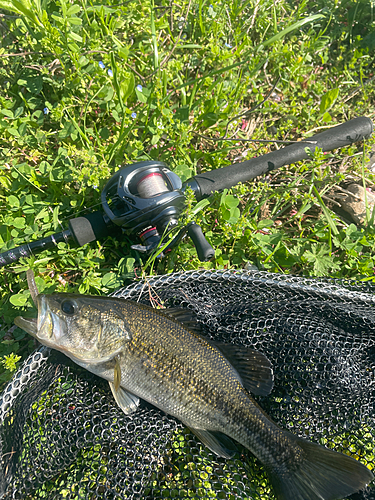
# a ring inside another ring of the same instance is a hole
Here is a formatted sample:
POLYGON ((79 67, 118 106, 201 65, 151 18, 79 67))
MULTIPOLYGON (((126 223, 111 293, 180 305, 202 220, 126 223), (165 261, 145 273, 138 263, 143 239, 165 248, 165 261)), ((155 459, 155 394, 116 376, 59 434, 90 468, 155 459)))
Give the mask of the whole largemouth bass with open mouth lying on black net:
POLYGON ((268 358, 207 339, 190 310, 39 294, 30 275, 28 281, 38 316, 19 316, 15 324, 107 380, 126 415, 142 399, 180 420, 219 457, 233 457, 240 443, 263 463, 278 500, 339 500, 373 480, 354 458, 274 422, 253 398, 273 389, 268 358))

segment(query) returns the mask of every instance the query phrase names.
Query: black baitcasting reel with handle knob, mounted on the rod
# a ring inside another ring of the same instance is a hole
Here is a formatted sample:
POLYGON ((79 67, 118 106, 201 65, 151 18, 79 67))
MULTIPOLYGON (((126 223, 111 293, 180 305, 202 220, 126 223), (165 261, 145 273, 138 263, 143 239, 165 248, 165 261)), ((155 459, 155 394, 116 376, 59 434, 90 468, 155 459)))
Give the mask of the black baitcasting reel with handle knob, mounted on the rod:
MULTIPOLYGON (((102 191, 102 205, 111 222, 126 234, 141 239, 142 245, 131 248, 150 254, 160 244, 165 231, 178 223, 185 206, 184 190, 179 176, 164 162, 143 161, 122 167, 111 177, 102 191)), ((214 256, 201 228, 194 223, 182 228, 164 253, 176 246, 186 232, 201 261, 214 256)))

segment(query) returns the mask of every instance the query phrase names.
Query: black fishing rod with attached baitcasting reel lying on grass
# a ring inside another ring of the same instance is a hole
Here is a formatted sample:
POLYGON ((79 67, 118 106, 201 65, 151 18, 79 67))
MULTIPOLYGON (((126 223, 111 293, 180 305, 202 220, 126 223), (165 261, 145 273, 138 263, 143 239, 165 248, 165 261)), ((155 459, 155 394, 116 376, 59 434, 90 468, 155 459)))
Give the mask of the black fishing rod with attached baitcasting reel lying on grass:
MULTIPOLYGON (((162 161, 144 161, 120 168, 104 186, 101 193, 102 211, 71 219, 68 229, 41 240, 26 243, 0 254, 0 267, 30 257, 58 243, 83 246, 100 240, 121 228, 125 234, 141 243, 131 248, 149 255, 162 241, 166 229, 175 226, 185 206, 185 192, 190 187, 197 200, 215 191, 229 189, 239 182, 249 181, 291 163, 307 159, 307 145, 324 152, 342 148, 370 137, 373 123, 367 117, 354 118, 321 132, 305 141, 296 142, 277 151, 198 174, 184 183, 162 161)), ((179 244, 188 234, 197 250, 198 258, 210 260, 215 252, 198 224, 190 222, 164 250, 179 244)))

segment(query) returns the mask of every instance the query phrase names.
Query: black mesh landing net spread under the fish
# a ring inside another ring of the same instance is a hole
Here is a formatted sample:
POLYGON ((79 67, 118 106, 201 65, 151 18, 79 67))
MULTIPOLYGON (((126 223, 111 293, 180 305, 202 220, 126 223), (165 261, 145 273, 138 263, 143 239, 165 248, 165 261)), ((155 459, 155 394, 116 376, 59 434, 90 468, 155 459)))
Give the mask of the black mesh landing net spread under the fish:
MULTIPOLYGON (((273 364, 257 397, 282 427, 375 468, 375 287, 261 272, 177 273, 116 296, 193 309, 209 338, 252 346, 273 364)), ((132 415, 106 381, 41 347, 0 399, 5 499, 273 499, 250 452, 218 458, 141 402, 132 415)), ((353 500, 375 500, 371 485, 353 500)))

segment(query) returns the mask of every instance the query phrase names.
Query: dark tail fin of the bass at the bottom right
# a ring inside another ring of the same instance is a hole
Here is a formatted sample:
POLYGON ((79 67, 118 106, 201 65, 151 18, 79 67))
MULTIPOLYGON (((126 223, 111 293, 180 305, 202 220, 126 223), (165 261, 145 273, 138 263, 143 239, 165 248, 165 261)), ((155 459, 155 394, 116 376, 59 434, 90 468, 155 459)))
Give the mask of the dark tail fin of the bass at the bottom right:
MULTIPOLYGON (((289 434, 289 433, 288 433, 289 434)), ((301 460, 270 471, 278 500, 339 500, 361 490, 374 476, 354 458, 296 438, 301 460)))

